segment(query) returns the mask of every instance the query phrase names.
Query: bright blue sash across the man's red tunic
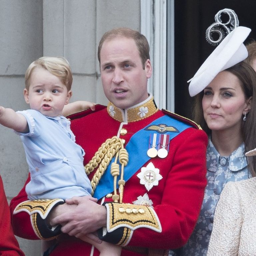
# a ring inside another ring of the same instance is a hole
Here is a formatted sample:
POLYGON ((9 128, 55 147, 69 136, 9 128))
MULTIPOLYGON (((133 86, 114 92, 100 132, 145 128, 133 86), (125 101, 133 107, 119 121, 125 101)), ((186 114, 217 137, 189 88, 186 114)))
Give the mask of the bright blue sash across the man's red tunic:
MULTIPOLYGON (((175 127, 178 131, 171 132, 167 131, 166 133, 170 135, 170 140, 176 137, 180 132, 191 127, 191 125, 185 124, 181 121, 178 121, 170 116, 162 116, 154 120, 151 124, 148 124, 147 127, 151 125, 165 124, 168 126, 175 127)), ((134 173, 136 173, 139 168, 141 168, 146 162, 150 160, 150 157, 147 155, 148 144, 150 139, 150 134, 156 131, 142 130, 136 132, 126 145, 126 150, 129 154, 129 161, 127 166, 124 168, 124 180, 129 180, 134 173)), ((104 175, 101 177, 98 186, 95 189, 93 197, 100 199, 103 196, 112 193, 113 188, 113 176, 110 173, 111 163, 114 162, 115 157, 113 157, 108 168, 106 169, 104 175)))

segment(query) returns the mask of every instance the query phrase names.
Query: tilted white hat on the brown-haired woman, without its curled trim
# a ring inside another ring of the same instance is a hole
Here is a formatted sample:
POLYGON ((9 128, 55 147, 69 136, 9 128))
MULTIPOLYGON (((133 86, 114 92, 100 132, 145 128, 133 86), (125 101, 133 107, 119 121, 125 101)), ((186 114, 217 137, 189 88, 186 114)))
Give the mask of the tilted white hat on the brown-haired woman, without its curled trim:
POLYGON ((221 71, 234 66, 248 57, 248 52, 243 44, 250 34, 247 27, 236 27, 216 47, 205 60, 193 78, 188 82, 191 97, 201 92, 221 71))

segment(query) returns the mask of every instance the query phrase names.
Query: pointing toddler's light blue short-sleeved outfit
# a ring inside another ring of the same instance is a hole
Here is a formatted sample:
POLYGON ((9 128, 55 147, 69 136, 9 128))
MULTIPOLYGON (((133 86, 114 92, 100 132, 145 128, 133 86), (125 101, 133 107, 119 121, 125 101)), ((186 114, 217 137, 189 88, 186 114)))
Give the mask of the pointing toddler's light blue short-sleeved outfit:
POLYGON ((70 121, 64 116, 48 117, 36 110, 17 111, 25 116, 28 133, 19 133, 26 153, 30 200, 71 198, 91 193, 83 165, 84 150, 75 143, 70 121))

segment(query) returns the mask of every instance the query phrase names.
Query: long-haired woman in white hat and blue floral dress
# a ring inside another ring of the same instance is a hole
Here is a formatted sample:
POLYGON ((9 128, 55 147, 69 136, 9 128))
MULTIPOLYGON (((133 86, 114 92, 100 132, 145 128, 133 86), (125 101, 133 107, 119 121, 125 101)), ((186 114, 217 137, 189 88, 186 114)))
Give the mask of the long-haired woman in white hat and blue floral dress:
MULTIPOLYGON (((189 85, 190 95, 196 95, 195 122, 209 135, 208 184, 196 227, 179 252, 182 256, 207 255, 215 207, 224 186, 255 175, 256 159, 251 158, 248 163, 245 156, 256 145, 256 73, 243 61, 248 56, 243 41, 250 31, 237 27, 228 34, 189 85)), ((218 229, 224 229, 224 225, 218 229)), ((226 239, 233 242, 231 236, 226 239)), ((218 236, 213 248, 222 244, 220 240, 218 236)), ((216 253, 213 249, 210 255, 236 254, 216 253)))

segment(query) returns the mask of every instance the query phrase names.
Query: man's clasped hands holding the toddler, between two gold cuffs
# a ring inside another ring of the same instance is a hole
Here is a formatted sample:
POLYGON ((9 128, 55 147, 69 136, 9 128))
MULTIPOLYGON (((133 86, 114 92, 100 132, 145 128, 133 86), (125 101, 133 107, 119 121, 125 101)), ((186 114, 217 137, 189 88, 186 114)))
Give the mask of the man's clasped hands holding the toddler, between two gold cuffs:
POLYGON ((50 224, 52 226, 62 224, 61 231, 63 233, 77 238, 93 233, 99 228, 106 226, 107 223, 106 208, 96 202, 97 199, 90 196, 67 199, 66 206, 63 205, 67 211, 63 212, 59 208, 58 213, 61 211, 62 213, 58 214, 56 212, 56 217, 53 216, 50 224), (69 209, 68 206, 72 208, 69 209))

